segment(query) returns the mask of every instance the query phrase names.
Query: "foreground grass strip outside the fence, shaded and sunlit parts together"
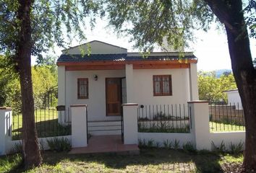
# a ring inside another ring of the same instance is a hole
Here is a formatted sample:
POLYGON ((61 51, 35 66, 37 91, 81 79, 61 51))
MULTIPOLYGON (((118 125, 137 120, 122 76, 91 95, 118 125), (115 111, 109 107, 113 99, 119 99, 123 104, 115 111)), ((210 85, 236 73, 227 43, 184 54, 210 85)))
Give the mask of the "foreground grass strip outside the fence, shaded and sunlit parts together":
MULTIPOLYGON (((225 164, 242 164, 243 156, 144 148, 139 156, 43 153, 42 167, 27 172, 223 172, 225 164)), ((0 157, 0 172, 24 172, 20 155, 0 157)))

